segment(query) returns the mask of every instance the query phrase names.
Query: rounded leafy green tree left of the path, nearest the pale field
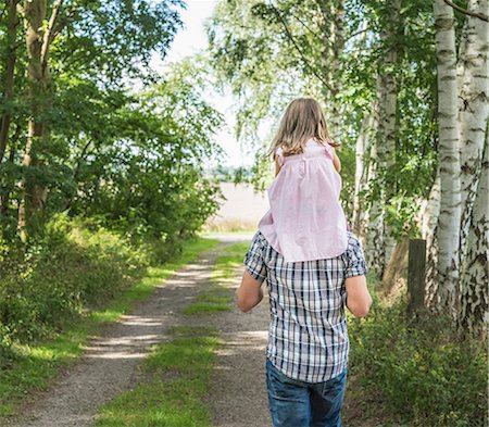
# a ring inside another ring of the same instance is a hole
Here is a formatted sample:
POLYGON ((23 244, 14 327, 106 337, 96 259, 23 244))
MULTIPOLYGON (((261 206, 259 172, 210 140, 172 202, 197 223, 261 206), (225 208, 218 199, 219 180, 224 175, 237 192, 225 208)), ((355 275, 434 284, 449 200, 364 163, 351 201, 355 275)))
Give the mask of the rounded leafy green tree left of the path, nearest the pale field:
POLYGON ((202 226, 217 206, 217 186, 202 171, 220 153, 212 140, 222 116, 203 101, 199 78, 183 63, 112 113, 113 134, 78 169, 72 212, 133 238, 176 242, 202 226))

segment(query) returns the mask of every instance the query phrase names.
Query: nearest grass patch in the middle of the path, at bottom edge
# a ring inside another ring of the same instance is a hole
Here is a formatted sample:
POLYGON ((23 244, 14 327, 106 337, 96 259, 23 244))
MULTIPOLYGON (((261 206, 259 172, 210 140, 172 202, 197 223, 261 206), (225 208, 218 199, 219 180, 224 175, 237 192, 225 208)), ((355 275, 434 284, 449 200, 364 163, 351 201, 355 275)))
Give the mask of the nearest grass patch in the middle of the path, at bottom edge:
POLYGON ((203 399, 220 346, 215 329, 179 326, 146 360, 151 380, 103 406, 97 427, 211 427, 203 399))

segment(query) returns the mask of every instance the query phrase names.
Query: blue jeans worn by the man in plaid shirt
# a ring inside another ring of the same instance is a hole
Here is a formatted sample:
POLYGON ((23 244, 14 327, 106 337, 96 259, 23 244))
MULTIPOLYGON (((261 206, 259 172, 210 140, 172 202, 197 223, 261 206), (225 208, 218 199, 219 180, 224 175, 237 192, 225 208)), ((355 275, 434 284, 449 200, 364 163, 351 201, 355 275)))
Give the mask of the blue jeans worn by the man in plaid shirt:
POLYGON ((342 427, 347 368, 325 382, 291 379, 266 360, 266 388, 274 427, 342 427))

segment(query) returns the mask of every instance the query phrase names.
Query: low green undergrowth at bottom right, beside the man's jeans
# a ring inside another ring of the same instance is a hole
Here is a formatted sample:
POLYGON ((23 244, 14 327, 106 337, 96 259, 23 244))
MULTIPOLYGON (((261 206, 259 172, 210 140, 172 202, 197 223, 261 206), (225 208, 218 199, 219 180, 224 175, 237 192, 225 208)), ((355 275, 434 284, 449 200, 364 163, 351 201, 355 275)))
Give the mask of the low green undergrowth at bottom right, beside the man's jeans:
POLYGON ((351 374, 361 394, 380 395, 410 426, 487 425, 487 357, 475 339, 459 340, 439 316, 409 322, 405 303, 376 302, 364 319, 349 322, 351 374))

